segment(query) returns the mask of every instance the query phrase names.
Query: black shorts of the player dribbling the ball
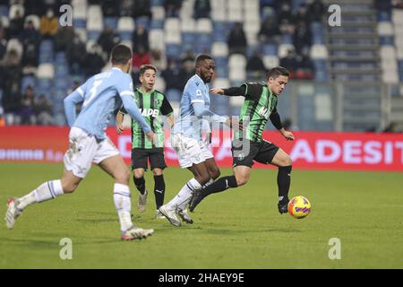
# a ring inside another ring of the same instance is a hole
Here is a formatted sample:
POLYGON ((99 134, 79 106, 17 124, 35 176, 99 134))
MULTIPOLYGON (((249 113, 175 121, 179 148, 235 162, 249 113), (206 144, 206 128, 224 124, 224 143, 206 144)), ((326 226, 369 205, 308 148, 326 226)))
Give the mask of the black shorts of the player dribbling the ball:
MULTIPOLYGON (((262 141, 261 143, 244 140, 244 143, 231 148, 233 164, 235 168, 239 165, 244 165, 252 168, 253 161, 269 164, 273 161, 276 152, 279 151, 279 146, 274 143, 262 141), (249 147, 247 146, 249 144, 249 147)), ((241 142, 238 142, 241 143, 241 142)))

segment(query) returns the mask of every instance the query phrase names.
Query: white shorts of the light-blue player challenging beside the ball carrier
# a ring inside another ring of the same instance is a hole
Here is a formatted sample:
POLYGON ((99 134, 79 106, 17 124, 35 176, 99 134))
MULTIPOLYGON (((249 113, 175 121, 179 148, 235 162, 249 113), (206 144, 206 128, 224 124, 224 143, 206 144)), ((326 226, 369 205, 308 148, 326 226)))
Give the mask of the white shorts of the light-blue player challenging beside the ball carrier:
POLYGON ((190 168, 193 164, 214 157, 206 143, 184 135, 171 135, 171 145, 177 152, 179 165, 182 169, 190 168))

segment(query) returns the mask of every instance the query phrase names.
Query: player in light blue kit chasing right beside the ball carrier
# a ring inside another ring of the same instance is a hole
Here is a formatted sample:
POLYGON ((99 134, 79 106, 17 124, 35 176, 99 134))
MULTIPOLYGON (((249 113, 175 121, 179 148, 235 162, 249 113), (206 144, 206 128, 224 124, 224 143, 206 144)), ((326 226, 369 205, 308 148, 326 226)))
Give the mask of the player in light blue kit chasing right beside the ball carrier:
MULTIPOLYGON (((191 170, 194 178, 189 180, 179 193, 167 204, 162 205, 159 211, 167 217, 174 226, 180 226, 179 215, 184 222, 193 223, 186 211, 193 191, 210 185, 219 178, 219 168, 207 144, 203 142, 202 130, 210 133, 208 121, 227 123, 230 118, 222 117, 210 111, 209 86, 215 63, 208 55, 201 55, 196 59, 196 74, 190 78, 185 87, 180 103, 180 118, 171 131, 171 144, 178 154, 181 168, 191 170)), ((208 136, 210 137, 210 136, 208 136)))

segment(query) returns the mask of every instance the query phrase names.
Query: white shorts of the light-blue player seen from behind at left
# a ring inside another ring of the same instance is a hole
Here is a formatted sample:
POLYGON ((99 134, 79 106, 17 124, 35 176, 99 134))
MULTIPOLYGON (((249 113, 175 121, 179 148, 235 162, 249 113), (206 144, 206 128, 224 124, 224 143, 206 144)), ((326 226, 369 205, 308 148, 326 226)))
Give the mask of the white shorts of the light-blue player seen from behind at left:
POLYGON ((74 176, 85 178, 92 162, 98 164, 117 154, 119 151, 109 138, 97 143, 93 135, 73 126, 69 134, 69 149, 64 153, 64 167, 73 171, 74 176))

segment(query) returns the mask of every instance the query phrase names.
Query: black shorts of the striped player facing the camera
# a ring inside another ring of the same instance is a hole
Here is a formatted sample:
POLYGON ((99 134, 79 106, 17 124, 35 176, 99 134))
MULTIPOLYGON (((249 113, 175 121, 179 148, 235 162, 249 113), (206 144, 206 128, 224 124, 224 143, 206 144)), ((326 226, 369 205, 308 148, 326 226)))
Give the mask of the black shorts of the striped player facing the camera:
POLYGON ((132 150, 132 170, 149 168, 148 160, 150 160, 151 170, 167 168, 167 164, 164 159, 164 148, 153 149, 140 149, 134 148, 132 150))

